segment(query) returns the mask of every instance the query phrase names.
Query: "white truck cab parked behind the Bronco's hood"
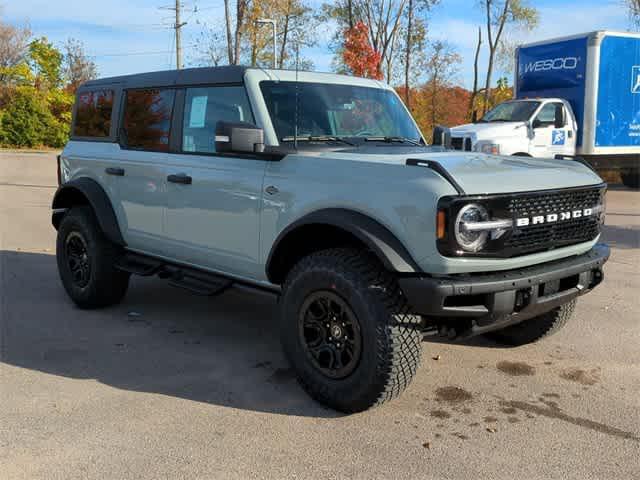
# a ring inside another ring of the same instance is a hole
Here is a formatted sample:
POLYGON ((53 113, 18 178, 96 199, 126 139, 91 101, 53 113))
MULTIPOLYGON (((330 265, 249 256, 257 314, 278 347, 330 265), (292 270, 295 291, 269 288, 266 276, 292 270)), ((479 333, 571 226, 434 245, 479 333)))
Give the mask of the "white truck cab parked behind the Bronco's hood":
POLYGON ((576 137, 573 110, 561 98, 511 100, 475 123, 451 129, 451 145, 456 150, 494 155, 574 155, 576 137))

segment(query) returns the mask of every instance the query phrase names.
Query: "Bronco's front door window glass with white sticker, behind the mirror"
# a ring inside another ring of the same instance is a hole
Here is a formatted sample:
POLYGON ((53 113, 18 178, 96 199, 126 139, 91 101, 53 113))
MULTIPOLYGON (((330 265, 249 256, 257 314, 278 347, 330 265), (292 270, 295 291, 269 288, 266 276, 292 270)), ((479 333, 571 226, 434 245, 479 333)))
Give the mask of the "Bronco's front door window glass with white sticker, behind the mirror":
POLYGON ((216 124, 220 121, 254 123, 244 87, 188 88, 182 123, 182 150, 214 153, 216 124))

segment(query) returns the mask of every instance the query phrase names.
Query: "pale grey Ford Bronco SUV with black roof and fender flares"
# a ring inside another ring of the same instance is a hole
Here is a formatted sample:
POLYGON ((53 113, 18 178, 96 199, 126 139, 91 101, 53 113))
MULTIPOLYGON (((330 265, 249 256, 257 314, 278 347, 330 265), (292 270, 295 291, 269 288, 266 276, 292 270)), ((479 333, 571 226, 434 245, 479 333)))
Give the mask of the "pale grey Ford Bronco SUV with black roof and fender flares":
POLYGON ((220 67, 90 81, 53 199, 80 308, 129 278, 273 293, 284 352, 344 412, 399 395, 426 334, 521 345, 603 279, 606 185, 576 160, 427 146, 394 90, 220 67))

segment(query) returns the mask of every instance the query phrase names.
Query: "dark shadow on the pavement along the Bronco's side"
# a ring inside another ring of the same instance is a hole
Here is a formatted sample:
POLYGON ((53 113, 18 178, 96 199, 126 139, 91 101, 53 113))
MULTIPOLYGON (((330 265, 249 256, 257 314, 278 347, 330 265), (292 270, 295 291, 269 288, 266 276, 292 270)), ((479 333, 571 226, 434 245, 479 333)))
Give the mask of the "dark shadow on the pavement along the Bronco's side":
POLYGON ((295 381, 271 297, 198 297, 158 279, 132 278, 122 304, 80 310, 62 288, 55 256, 0 256, 5 364, 234 409, 340 416, 295 381))

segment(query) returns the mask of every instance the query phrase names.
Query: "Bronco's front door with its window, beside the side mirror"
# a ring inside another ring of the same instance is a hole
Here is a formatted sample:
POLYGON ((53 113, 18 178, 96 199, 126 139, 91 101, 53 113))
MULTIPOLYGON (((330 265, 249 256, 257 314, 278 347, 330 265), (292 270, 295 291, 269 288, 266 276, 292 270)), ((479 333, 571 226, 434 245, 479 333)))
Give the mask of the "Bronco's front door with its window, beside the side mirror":
POLYGON ((244 86, 187 88, 181 149, 166 165, 169 256, 245 278, 261 270, 259 217, 266 161, 216 153, 217 122, 250 122, 244 86))

